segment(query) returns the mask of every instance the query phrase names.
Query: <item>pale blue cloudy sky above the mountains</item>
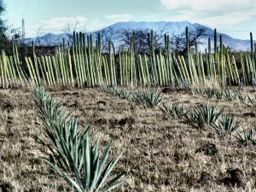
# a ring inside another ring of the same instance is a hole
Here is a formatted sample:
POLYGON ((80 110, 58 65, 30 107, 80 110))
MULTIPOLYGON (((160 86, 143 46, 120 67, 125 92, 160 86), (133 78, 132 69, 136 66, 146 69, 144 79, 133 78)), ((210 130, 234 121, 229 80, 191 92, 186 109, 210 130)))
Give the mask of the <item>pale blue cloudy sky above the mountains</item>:
POLYGON ((18 28, 24 18, 26 37, 61 33, 70 26, 92 32, 118 21, 200 23, 233 38, 256 37, 256 0, 3 0, 3 19, 18 28))

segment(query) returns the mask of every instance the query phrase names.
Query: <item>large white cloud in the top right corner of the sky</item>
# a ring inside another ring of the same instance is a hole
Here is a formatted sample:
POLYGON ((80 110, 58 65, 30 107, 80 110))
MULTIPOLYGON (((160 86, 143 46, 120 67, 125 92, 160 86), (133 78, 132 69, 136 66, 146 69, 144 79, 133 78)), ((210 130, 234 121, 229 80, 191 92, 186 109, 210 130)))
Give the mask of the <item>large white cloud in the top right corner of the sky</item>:
POLYGON ((214 27, 234 26, 256 16, 255 0, 160 0, 160 3, 171 11, 168 19, 214 27))

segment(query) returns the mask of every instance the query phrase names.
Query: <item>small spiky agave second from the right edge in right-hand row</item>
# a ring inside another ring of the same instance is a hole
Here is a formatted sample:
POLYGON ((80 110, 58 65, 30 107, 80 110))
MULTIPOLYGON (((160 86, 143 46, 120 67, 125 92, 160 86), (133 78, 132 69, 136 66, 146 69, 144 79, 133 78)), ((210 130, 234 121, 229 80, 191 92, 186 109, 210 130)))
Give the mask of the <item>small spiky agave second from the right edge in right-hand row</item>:
POLYGON ((219 135, 228 135, 236 131, 240 127, 241 121, 236 121, 235 117, 229 115, 222 115, 218 120, 218 124, 212 125, 212 128, 217 131, 219 135))

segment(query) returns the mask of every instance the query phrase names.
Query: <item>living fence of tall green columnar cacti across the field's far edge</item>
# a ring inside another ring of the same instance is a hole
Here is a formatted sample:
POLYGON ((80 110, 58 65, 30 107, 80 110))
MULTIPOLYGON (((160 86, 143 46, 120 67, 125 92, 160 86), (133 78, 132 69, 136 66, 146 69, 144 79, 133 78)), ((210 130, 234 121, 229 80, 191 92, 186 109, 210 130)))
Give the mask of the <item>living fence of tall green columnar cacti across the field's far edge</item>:
MULTIPOLYGON (((189 28, 186 27, 187 54, 175 55, 171 49, 169 35, 165 36, 165 47, 158 54, 154 48, 154 32, 148 34, 149 55, 137 55, 134 50, 135 36, 131 38, 129 49, 120 49, 115 55, 109 42, 108 54, 102 53, 102 39, 99 34, 96 44, 92 36, 82 32, 73 33, 73 44, 63 44, 55 55, 36 55, 26 57, 25 63, 19 58, 14 44, 13 56, 4 51, 0 56, 0 76, 3 88, 38 86, 78 86, 95 87, 102 84, 121 86, 207 84, 213 80, 219 84, 254 84, 256 79, 256 49, 251 33, 251 53, 235 53, 225 48, 220 35, 214 31, 214 46, 208 39, 206 53, 195 54, 189 45, 189 28), (213 50, 213 51, 212 51, 213 50)), ((33 45, 34 46, 34 45, 33 45)))

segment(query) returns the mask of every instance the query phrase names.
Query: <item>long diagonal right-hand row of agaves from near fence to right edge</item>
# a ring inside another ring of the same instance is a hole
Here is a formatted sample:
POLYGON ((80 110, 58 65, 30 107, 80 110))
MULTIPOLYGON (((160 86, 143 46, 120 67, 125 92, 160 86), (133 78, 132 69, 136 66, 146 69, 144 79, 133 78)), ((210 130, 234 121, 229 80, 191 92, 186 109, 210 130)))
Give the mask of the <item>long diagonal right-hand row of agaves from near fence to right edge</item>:
MULTIPOLYGON (((199 129, 212 128, 218 135, 234 137, 242 144, 253 143, 256 144, 256 128, 239 131, 241 129, 241 121, 237 121, 234 116, 224 113, 224 108, 218 110, 218 107, 201 105, 195 108, 186 108, 183 104, 176 102, 163 102, 163 96, 159 90, 126 90, 124 88, 114 88, 104 86, 102 90, 111 94, 112 96, 119 96, 121 99, 127 99, 131 102, 143 104, 146 107, 154 108, 158 106, 160 110, 166 114, 167 117, 183 119, 189 125, 193 125, 199 129)), ((215 89, 213 89, 215 90, 215 89)), ((237 94, 235 90, 229 90, 230 94, 237 94)), ((229 97, 228 97, 229 98, 229 97)), ((233 96, 232 96, 233 98, 233 96)), ((250 97, 249 97, 250 98, 250 97)), ((255 97, 256 99, 256 97, 255 97)), ((253 98, 250 98, 254 101, 253 98)), ((228 99, 227 101, 231 101, 228 99)), ((254 106, 251 106, 254 107, 254 106)))

